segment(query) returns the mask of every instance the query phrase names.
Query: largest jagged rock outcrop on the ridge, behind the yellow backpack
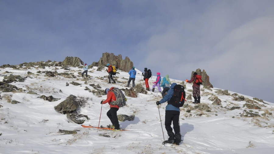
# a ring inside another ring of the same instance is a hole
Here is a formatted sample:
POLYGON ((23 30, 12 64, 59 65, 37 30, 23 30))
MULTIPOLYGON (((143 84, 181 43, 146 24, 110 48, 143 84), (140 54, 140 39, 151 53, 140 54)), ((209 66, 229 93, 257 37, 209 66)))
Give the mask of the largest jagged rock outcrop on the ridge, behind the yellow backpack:
POLYGON ((113 53, 103 53, 102 58, 98 62, 93 62, 91 66, 105 66, 109 63, 110 65, 116 66, 116 68, 128 72, 133 67, 133 62, 128 57, 122 59, 122 55, 115 56, 113 53))

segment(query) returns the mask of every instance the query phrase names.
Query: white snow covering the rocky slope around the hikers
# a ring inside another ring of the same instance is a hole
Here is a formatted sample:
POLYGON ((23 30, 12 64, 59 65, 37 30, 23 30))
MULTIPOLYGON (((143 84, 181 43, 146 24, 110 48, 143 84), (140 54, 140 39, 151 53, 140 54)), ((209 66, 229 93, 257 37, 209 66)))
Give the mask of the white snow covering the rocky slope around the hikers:
MULTIPOLYGON (((46 69, 38 69, 40 71, 52 71, 54 67, 46 69)), ((57 70, 58 73, 66 72, 61 69, 57 70)), ((81 68, 70 67, 74 75, 78 75, 78 71, 83 71, 81 68)), ((118 88, 126 88, 125 82, 129 75, 127 72, 118 71, 118 81, 121 83, 115 85, 107 84, 106 80, 99 80, 97 77, 105 76, 106 72, 96 71, 97 67, 89 69, 93 73, 88 72, 91 75, 91 79, 88 80, 88 84, 99 84, 102 90, 115 86, 118 88), (126 79, 121 79, 125 77, 126 79)), ((12 68, 5 68, 0 70, 0 74, 5 71, 7 73, 3 75, 21 75, 26 76, 27 72, 37 74, 38 71, 35 68, 29 70, 15 70, 12 68)), ((137 70, 137 69, 136 69, 137 70)), ((71 73, 71 72, 68 72, 71 73)), ((145 87, 144 81, 141 79, 142 72, 137 70, 135 84, 140 82, 145 87), (138 74, 139 73, 139 74, 138 74)), ((88 92, 85 86, 93 90, 93 87, 85 85, 82 77, 76 81, 76 79, 68 79, 63 76, 57 75, 56 77, 45 77, 41 75, 29 75, 33 79, 27 78, 25 82, 11 83, 18 88, 23 88, 28 92, 28 88, 38 93, 39 95, 27 94, 27 93, 1 93, 0 105, 0 153, 213 153, 213 154, 234 154, 234 153, 260 153, 264 154, 273 153, 274 150, 274 118, 273 115, 269 117, 260 117, 259 124, 255 124, 256 119, 251 117, 240 117, 240 112, 243 110, 249 110, 243 105, 245 101, 237 102, 231 100, 232 96, 217 95, 213 91, 205 89, 203 93, 214 93, 221 99, 223 107, 230 108, 233 106, 239 106, 238 110, 227 110, 220 106, 211 105, 212 101, 208 100, 211 95, 202 96, 201 102, 209 105, 212 112, 203 111, 202 116, 197 116, 199 111, 192 110, 190 113, 186 113, 187 108, 181 108, 180 114, 180 127, 182 141, 180 145, 162 145, 163 132, 160 124, 160 117, 156 101, 161 99, 161 94, 155 92, 148 92, 145 94, 138 94, 137 98, 128 98, 127 106, 118 110, 117 114, 135 114, 134 121, 119 122, 122 128, 132 131, 106 131, 94 128, 83 128, 80 124, 74 124, 71 121, 68 122, 66 115, 60 114, 54 110, 54 106, 61 103, 69 95, 84 95, 90 96, 93 100, 88 101, 88 105, 77 110, 78 113, 87 115, 90 119, 87 120, 84 125, 98 126, 101 104, 100 101, 106 99, 106 95, 97 97, 95 94, 88 92), (81 86, 69 85, 66 86, 66 82, 78 82, 81 86), (59 90, 63 93, 60 93, 59 90), (157 94, 157 96, 156 96, 157 94), (12 100, 17 100, 21 103, 11 104, 5 100, 5 95, 10 95, 12 100), (43 99, 37 98, 38 96, 52 95, 54 98, 61 98, 61 100, 55 102, 48 102, 43 99), (4 97, 3 97, 4 96, 4 97), (225 102, 226 101, 226 102, 225 102), (189 116, 192 114, 192 116, 189 116), (217 116, 215 115, 217 114, 217 116), (232 118, 232 117, 235 118, 232 118), (183 120, 183 119, 184 120, 183 120), (48 120, 48 121, 45 121, 48 120), (266 124, 267 123, 267 124, 266 124), (59 129, 64 130, 79 130, 75 135, 61 135, 58 133, 59 129), (99 136, 99 134, 110 135, 111 138, 99 136)), ((162 75, 165 76, 165 75, 162 75)), ((170 76, 171 77, 171 76, 170 76)), ((4 77, 1 76, 2 81, 4 77)), ((172 78, 172 77, 171 77, 172 78)), ((154 82, 156 76, 153 76, 149 80, 150 88, 152 88, 152 82, 154 82)), ((170 79, 171 82, 177 84, 181 83, 179 80, 170 79)), ((182 79, 184 80, 184 79, 182 79)), ((131 86, 131 85, 130 85, 131 86)), ((188 89, 192 89, 192 85, 186 83, 186 92, 188 89)), ((202 86, 201 86, 202 87, 202 86)), ((229 91, 233 94, 234 92, 229 91)), ((188 94, 192 94, 187 92, 188 94)), ((239 93, 238 93, 239 94, 239 93)), ((241 94, 239 94, 241 95, 241 94)), ((241 95, 245 96, 245 95, 241 95)), ((252 100, 253 97, 245 96, 252 100)), ((192 98, 192 101, 194 99, 192 98)), ((265 102, 262 107, 263 110, 255 110, 261 115, 264 110, 273 112, 274 108, 272 103, 265 102)), ((167 140, 167 132, 164 127, 165 120, 165 106, 167 103, 159 105, 160 115, 162 119, 162 126, 164 130, 164 138, 167 140)), ((196 104, 187 102, 189 107, 194 107, 196 104)), ((109 105, 104 104, 102 107, 102 115, 100 125, 106 126, 111 124, 106 113, 109 110, 109 105)))

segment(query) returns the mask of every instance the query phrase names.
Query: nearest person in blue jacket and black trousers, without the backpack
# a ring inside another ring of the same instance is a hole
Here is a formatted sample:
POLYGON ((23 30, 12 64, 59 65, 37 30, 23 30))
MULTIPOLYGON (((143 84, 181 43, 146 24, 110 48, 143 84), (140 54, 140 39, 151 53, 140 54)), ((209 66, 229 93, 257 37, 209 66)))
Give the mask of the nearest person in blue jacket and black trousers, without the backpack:
MULTIPOLYGON (((167 91, 167 95, 164 96, 163 99, 161 99, 160 101, 157 101, 156 105, 169 101, 174 92, 173 87, 176 85, 177 85, 176 83, 172 83, 170 86, 170 90, 167 91)), ((179 116, 180 116, 180 108, 174 107, 171 104, 167 104, 166 115, 165 115, 165 126, 167 130, 167 135, 169 136, 168 140, 165 141, 167 143, 171 143, 171 144, 175 143, 179 145, 179 143, 181 142, 179 116), (171 128, 171 122, 173 123, 173 129, 174 129, 175 135, 171 128)))

